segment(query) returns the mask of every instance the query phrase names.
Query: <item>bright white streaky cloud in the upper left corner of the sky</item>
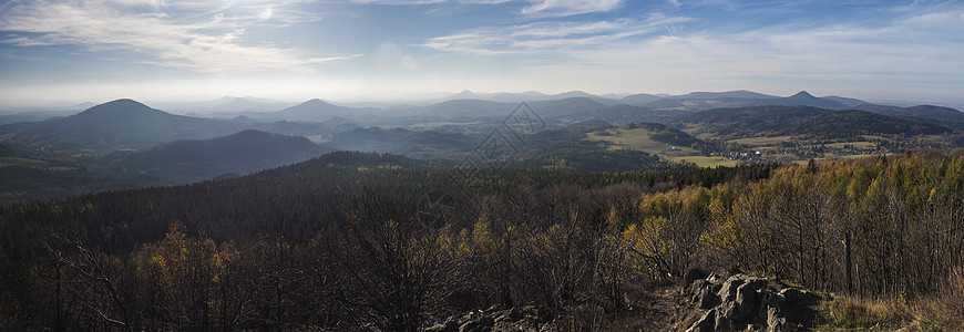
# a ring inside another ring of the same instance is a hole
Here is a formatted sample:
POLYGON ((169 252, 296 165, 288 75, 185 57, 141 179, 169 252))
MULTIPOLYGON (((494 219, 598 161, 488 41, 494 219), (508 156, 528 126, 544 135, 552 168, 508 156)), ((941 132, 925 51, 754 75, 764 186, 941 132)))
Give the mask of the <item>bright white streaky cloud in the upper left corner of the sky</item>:
POLYGON ((18 46, 76 45, 95 51, 125 48, 150 56, 140 62, 198 72, 314 72, 319 63, 352 59, 239 43, 245 25, 277 14, 263 3, 249 4, 232 8, 217 1, 29 1, 0 13, 0 31, 25 33, 4 41, 18 46), (227 20, 226 10, 240 14, 227 20))

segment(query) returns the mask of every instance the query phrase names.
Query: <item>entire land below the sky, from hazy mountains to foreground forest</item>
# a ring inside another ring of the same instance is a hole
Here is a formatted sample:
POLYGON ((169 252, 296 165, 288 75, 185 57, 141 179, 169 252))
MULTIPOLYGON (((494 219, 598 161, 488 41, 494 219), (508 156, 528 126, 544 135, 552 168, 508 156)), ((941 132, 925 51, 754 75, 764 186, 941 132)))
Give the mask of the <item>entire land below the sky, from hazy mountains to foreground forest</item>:
POLYGON ((222 102, 0 125, 0 328, 961 326, 953 108, 222 102))

